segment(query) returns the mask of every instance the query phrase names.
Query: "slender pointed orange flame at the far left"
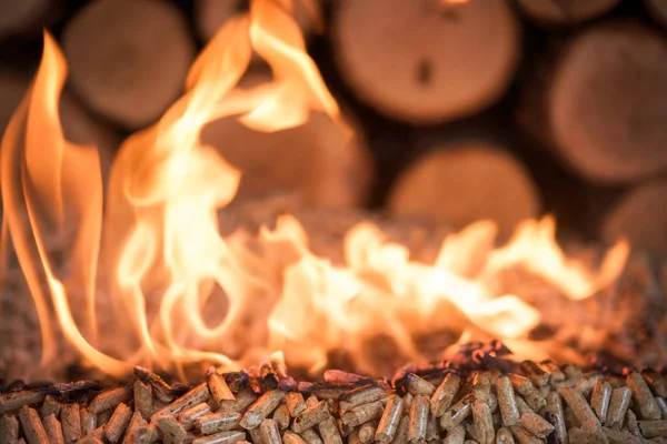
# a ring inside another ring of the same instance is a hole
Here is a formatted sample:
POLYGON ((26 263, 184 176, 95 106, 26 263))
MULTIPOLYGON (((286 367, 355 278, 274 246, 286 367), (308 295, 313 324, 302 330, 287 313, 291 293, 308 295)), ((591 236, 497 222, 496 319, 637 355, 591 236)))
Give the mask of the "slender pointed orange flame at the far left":
POLYGON ((56 350, 41 286, 42 273, 68 341, 83 356, 108 366, 111 374, 120 374, 116 369, 122 363, 90 345, 77 329, 64 286, 56 276, 46 249, 49 233, 62 236, 69 223, 79 228, 72 249, 72 266, 78 266, 81 272, 78 284, 88 301, 88 321, 94 325, 92 301, 102 203, 99 159, 97 151, 69 143, 62 135, 58 95, 64 77, 62 53, 52 37, 44 33, 42 63, 2 139, 2 202, 7 209, 3 230, 11 235, 36 303, 42 329, 43 361, 52 359, 56 350))

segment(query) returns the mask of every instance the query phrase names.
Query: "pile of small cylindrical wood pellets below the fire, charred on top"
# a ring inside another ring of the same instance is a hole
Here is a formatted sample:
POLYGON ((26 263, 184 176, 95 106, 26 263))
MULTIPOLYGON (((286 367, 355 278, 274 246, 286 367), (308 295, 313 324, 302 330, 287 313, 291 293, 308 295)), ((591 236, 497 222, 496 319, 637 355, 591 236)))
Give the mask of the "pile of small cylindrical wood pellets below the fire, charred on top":
POLYGON ((0 395, 2 443, 667 442, 667 377, 515 362, 499 343, 408 365, 391 380, 330 370, 297 382, 263 362, 186 389, 141 367, 126 385, 26 386, 0 395))

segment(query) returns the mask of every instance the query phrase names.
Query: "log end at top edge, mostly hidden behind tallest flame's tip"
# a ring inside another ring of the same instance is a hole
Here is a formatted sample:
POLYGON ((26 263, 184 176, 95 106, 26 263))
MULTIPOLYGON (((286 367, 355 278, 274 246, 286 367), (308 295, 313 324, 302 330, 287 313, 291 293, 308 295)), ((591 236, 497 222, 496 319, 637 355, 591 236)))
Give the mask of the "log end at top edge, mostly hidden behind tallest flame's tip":
MULTIPOLYGON (((199 38, 209 41, 227 20, 247 9, 248 0, 196 0, 195 24, 199 38)), ((291 0, 291 12, 303 34, 322 30, 321 0, 291 0)))

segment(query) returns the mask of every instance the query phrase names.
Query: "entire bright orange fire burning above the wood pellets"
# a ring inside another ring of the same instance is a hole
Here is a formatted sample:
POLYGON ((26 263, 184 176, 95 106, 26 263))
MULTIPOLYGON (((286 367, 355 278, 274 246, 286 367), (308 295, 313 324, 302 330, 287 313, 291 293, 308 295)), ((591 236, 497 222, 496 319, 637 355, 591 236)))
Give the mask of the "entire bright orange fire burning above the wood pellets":
POLYGON ((62 135, 57 104, 66 71, 44 33, 40 69, 0 159, 2 246, 7 251, 11 241, 30 286, 44 364, 57 353, 51 310, 84 361, 111 375, 136 364, 236 369, 278 351, 311 371, 332 353, 349 355, 370 373, 378 365, 366 352, 369 344, 389 339, 400 356, 418 361, 424 356, 414 339, 425 330, 521 346, 541 313, 498 290, 505 270, 524 268, 583 300, 609 285, 628 255, 619 243, 593 271, 564 254, 548 218, 525 222, 501 248, 494 223, 475 223, 449 235, 434 264, 410 259, 406 246, 386 241, 370 223, 347 234, 345 266, 310 252, 308 235, 290 215, 258 236, 222 238, 217 212, 233 199, 241 172, 200 143, 207 123, 236 115, 272 132, 319 111, 349 131, 299 28, 275 0, 255 0, 248 13, 229 21, 192 65, 186 93, 157 124, 123 143, 106 201, 97 152, 62 135), (235 90, 253 50, 273 81, 235 90), (62 272, 46 239, 68 236, 67 226, 77 230, 62 272))

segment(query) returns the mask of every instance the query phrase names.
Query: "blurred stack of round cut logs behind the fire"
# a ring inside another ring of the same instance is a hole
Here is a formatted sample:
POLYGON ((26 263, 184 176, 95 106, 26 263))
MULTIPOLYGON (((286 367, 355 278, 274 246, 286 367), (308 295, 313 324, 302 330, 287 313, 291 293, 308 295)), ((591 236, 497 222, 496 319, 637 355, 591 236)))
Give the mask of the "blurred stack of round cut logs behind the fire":
MULTIPOLYGON (((296 192, 458 229, 555 214, 560 234, 667 254, 667 1, 276 0, 291 4, 357 137, 328 118, 205 129, 239 200, 296 192)), ((0 0, 0 130, 41 52, 70 65, 66 134, 109 163, 181 93, 241 0, 0 0)), ((243 82, 267 79, 261 62, 243 82)))

